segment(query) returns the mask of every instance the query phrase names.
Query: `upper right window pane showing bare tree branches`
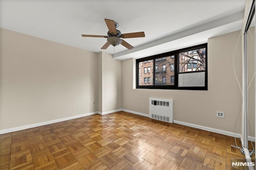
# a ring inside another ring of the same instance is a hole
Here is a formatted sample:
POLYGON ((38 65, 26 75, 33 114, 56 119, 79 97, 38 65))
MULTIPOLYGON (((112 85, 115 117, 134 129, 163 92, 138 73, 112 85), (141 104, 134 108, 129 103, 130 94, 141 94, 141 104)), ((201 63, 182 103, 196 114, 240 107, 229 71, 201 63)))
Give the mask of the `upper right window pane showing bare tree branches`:
POLYGON ((179 53, 179 72, 205 71, 205 48, 179 53))

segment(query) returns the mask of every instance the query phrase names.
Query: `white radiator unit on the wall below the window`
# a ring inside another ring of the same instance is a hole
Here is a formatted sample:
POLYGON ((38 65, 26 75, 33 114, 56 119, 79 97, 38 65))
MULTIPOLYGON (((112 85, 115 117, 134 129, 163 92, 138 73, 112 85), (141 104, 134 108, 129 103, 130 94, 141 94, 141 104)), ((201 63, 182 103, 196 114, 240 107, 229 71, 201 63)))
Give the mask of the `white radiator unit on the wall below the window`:
POLYGON ((173 101, 170 99, 149 98, 149 117, 173 123, 173 101))

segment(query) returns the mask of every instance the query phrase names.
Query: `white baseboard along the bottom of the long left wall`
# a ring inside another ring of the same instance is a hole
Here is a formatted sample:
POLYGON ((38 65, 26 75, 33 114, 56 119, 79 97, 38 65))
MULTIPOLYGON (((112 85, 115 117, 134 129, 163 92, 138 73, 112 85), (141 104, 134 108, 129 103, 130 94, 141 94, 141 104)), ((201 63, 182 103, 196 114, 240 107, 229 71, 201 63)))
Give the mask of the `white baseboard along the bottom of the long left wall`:
POLYGON ((0 134, 9 133, 9 132, 15 132, 15 131, 18 131, 18 130, 24 130, 24 129, 28 129, 28 128, 40 127, 40 126, 49 125, 49 124, 52 124, 52 123, 68 121, 68 120, 71 120, 71 119, 76 119, 76 118, 90 116, 90 115, 95 115, 95 114, 97 114, 97 112, 85 113, 83 115, 76 115, 76 116, 71 116, 71 117, 65 117, 65 118, 61 118, 61 119, 56 119, 56 120, 46 121, 46 122, 41 122, 41 123, 35 123, 35 124, 25 125, 25 126, 21 126, 21 127, 8 128, 8 129, 0 130, 0 134))

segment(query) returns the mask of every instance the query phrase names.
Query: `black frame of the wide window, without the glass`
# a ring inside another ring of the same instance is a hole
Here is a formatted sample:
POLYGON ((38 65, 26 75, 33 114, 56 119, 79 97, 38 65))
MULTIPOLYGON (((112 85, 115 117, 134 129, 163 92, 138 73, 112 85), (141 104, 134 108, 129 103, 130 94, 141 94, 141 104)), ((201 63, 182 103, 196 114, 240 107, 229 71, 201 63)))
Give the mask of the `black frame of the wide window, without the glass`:
POLYGON ((136 89, 177 89, 177 90, 208 90, 208 47, 207 47, 207 43, 203 43, 203 44, 199 44, 199 45, 194 45, 192 47, 186 47, 186 48, 182 48, 182 49, 177 49, 174 51, 169 51, 166 53, 160 53, 160 54, 156 54, 156 55, 152 55, 149 57, 143 57, 140 59, 136 59, 136 89), (186 74, 186 73, 193 73, 193 72, 205 72, 205 80, 204 80, 204 87, 178 87, 178 74, 179 74, 179 53, 184 52, 184 51, 190 51, 190 50, 195 50, 195 49, 199 49, 199 48, 205 48, 205 52, 206 52, 206 58, 205 58, 205 71, 189 71, 189 72, 184 72, 184 73, 180 73, 180 74, 186 74), (156 69, 156 65, 155 65, 155 59, 159 59, 159 58, 163 58, 163 57, 171 57, 172 55, 174 55, 174 85, 155 85, 155 69, 156 69), (153 80, 151 80, 153 82, 154 85, 139 85, 138 82, 138 64, 140 62, 144 62, 144 61, 148 61, 148 60, 154 60, 154 65, 151 72, 154 72, 154 77, 153 80))

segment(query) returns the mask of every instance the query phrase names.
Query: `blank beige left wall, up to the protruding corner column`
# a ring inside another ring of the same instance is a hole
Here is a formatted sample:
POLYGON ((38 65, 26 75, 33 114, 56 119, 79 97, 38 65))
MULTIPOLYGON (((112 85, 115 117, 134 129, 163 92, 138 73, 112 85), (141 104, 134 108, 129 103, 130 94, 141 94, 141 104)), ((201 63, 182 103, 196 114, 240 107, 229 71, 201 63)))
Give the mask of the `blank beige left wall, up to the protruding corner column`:
POLYGON ((97 111, 97 71, 96 53, 0 29, 0 130, 97 111))

